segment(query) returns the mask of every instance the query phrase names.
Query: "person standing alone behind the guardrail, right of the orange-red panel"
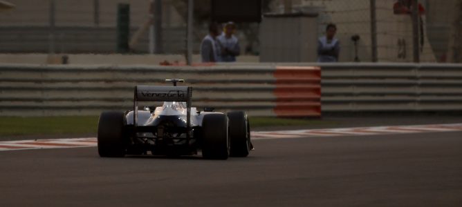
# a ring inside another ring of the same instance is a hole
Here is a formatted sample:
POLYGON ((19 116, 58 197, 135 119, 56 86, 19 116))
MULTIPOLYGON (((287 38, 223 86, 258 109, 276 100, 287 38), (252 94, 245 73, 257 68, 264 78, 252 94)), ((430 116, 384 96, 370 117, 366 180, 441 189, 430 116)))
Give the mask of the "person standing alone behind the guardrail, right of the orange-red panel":
POLYGON ((326 26, 326 36, 317 40, 317 61, 337 62, 340 52, 340 42, 334 38, 337 27, 333 23, 326 26))

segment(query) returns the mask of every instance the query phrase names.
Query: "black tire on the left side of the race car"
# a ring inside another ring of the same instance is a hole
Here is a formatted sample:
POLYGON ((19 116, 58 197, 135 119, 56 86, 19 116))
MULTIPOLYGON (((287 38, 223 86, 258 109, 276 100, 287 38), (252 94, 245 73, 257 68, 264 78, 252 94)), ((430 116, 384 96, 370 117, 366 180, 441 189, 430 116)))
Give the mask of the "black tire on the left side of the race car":
POLYGON ((102 112, 98 121, 98 153, 100 157, 124 157, 127 139, 124 126, 127 119, 123 112, 102 112))

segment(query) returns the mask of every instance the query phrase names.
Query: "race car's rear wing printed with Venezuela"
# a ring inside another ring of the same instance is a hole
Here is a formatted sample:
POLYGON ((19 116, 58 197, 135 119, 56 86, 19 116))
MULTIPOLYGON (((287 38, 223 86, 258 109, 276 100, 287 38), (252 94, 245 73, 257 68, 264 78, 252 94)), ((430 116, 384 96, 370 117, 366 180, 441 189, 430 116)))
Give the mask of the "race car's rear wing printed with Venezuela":
POLYGON ((186 126, 189 130, 191 99, 192 87, 188 86, 136 86, 133 101, 133 126, 136 127, 138 123, 138 101, 181 101, 186 102, 186 126))

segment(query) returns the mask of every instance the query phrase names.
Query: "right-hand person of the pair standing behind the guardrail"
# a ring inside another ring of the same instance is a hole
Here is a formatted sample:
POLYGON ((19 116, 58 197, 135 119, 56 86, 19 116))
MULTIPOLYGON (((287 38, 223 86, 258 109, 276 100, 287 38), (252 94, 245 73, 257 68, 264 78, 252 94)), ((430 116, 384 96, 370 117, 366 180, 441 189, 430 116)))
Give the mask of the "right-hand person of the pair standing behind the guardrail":
POLYGON ((221 35, 216 38, 220 48, 219 58, 223 62, 234 62, 236 61, 236 56, 241 53, 239 41, 237 37, 234 36, 235 30, 236 25, 234 25, 234 22, 230 21, 225 24, 225 30, 221 35))

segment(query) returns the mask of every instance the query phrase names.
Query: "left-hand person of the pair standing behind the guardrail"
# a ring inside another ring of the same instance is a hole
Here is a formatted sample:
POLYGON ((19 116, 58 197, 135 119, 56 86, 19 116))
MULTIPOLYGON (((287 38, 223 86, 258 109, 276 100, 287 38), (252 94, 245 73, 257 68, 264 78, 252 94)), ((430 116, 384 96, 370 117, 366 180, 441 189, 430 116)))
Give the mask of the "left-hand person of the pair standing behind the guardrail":
POLYGON ((203 62, 219 61, 219 48, 216 45, 216 37, 219 35, 217 23, 210 23, 209 34, 204 37, 201 43, 201 57, 203 62))

